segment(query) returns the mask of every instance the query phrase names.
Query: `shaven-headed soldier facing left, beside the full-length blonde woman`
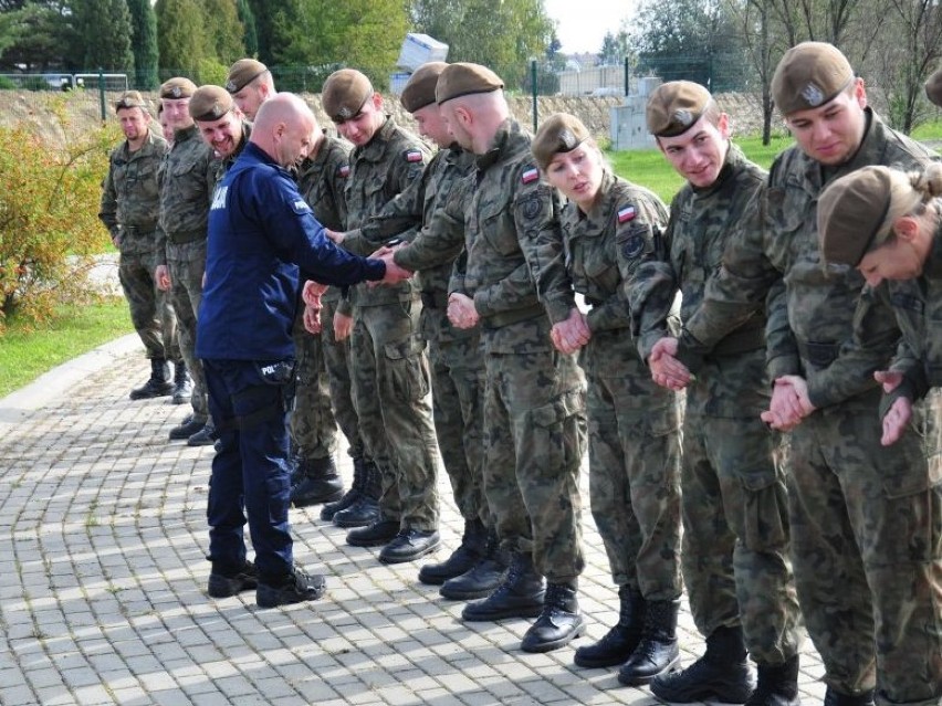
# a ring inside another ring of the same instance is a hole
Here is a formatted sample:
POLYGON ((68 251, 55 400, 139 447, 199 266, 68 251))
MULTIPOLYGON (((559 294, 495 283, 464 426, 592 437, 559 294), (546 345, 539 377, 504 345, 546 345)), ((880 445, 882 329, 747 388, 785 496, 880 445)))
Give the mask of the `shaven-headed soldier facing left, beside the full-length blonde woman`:
MULTIPOLYGON (((540 178, 530 136, 510 117, 503 85, 485 66, 457 63, 436 86, 452 136, 478 156, 470 198, 461 192, 449 204, 452 218, 464 221, 467 268, 450 286, 448 315, 459 328, 481 326, 484 493, 511 556, 503 582, 468 604, 462 618, 538 615, 521 647, 546 652, 584 630, 577 599, 585 566, 578 491, 584 381, 575 358, 550 340, 553 324, 567 320, 575 305, 559 204, 540 178)), ((579 335, 567 327, 567 339, 579 335)))

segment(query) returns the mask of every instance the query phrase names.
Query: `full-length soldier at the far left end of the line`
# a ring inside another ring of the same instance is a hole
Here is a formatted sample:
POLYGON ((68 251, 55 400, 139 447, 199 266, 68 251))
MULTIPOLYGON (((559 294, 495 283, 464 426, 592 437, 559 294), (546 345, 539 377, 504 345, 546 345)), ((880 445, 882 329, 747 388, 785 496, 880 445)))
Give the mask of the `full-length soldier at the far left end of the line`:
POLYGON ((154 281, 158 247, 155 232, 160 209, 157 168, 167 151, 167 143, 150 131, 147 103, 137 91, 123 94, 115 103, 115 113, 125 140, 108 158, 98 218, 121 253, 118 278, 130 307, 134 329, 150 359, 150 378, 130 391, 130 399, 146 400, 174 392, 168 361, 184 367, 170 297, 154 281))

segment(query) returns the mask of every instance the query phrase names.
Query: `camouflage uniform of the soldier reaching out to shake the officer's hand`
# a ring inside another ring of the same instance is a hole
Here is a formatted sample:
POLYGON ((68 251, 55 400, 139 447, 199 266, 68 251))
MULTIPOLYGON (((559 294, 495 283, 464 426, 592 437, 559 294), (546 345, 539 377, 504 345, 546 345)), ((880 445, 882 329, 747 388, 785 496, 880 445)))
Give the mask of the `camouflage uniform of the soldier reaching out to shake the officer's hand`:
POLYGON ((429 344, 432 373, 432 411, 436 435, 454 502, 464 519, 488 525, 488 503, 481 480, 484 455, 484 360, 480 330, 454 328, 448 320, 448 283, 454 260, 464 250, 464 228, 440 214, 451 190, 467 176, 474 157, 460 147, 432 157, 422 178, 390 201, 357 233, 383 242, 417 222, 422 230, 395 254, 396 263, 418 272, 422 314, 420 331, 429 344))

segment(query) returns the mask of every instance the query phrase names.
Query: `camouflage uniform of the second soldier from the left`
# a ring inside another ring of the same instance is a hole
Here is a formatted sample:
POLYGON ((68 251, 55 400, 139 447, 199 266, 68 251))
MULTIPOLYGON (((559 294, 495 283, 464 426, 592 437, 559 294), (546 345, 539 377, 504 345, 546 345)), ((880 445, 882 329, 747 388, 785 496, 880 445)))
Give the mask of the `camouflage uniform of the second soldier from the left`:
POLYGON ((180 352, 193 379, 193 419, 206 421, 209 408, 202 365, 193 356, 196 319, 206 270, 206 224, 209 202, 220 173, 219 160, 192 125, 174 135, 174 146, 160 165, 158 264, 170 271, 170 298, 177 313, 180 352))

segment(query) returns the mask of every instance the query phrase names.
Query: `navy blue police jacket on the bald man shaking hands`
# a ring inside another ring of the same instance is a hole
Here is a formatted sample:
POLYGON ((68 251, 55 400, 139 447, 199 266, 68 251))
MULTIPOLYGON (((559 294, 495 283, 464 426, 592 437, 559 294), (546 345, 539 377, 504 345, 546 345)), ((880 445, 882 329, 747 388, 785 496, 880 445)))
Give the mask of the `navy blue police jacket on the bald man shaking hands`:
POLYGON ((197 357, 293 357, 299 266, 331 285, 386 274, 381 261, 334 245, 291 173, 249 143, 212 194, 197 357))

